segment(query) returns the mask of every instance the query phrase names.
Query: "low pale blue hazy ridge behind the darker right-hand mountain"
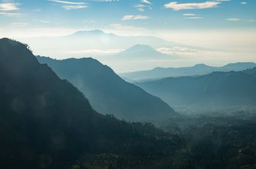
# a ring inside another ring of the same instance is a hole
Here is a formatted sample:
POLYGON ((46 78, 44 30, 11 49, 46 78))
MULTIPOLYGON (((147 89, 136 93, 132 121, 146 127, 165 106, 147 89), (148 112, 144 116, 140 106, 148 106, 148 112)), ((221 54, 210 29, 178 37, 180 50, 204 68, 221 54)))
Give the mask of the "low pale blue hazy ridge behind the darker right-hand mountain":
POLYGON ((160 79, 166 77, 178 77, 178 76, 199 76, 204 74, 209 74, 211 72, 221 71, 240 71, 247 68, 253 68, 256 64, 253 62, 238 62, 226 64, 225 66, 207 66, 205 64, 196 64, 192 67, 183 68, 154 68, 152 70, 144 70, 138 72, 128 72, 119 74, 125 79, 130 81, 136 80, 150 80, 150 79, 160 79))

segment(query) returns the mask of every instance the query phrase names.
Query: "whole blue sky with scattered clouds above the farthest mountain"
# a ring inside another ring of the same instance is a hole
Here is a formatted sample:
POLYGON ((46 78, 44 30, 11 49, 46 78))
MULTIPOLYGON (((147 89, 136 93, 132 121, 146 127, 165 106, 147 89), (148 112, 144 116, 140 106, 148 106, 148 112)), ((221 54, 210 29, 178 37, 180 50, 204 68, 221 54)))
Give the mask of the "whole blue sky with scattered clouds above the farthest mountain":
POLYGON ((255 9, 255 0, 0 0, 0 37, 97 29, 233 50, 256 61, 255 9))

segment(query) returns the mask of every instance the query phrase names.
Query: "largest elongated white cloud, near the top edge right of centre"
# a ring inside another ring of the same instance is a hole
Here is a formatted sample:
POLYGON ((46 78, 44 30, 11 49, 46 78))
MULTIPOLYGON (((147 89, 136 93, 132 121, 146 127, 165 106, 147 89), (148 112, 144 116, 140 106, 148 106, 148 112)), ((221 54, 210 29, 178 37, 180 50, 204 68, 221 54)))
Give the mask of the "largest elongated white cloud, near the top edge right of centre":
POLYGON ((182 9, 205 9, 217 7, 220 4, 220 1, 206 1, 204 3, 178 3, 170 2, 164 5, 165 8, 174 9, 174 11, 179 11, 182 9))

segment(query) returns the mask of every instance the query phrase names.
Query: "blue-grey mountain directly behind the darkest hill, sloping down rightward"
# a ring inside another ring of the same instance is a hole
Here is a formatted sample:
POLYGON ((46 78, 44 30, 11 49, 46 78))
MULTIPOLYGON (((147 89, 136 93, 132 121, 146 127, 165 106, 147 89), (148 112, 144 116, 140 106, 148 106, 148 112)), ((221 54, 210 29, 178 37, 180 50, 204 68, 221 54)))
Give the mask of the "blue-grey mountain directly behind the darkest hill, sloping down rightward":
POLYGON ((96 111, 119 119, 143 121, 174 115, 173 109, 134 84, 126 82, 106 65, 92 58, 53 60, 38 56, 61 78, 69 80, 90 100, 96 111))

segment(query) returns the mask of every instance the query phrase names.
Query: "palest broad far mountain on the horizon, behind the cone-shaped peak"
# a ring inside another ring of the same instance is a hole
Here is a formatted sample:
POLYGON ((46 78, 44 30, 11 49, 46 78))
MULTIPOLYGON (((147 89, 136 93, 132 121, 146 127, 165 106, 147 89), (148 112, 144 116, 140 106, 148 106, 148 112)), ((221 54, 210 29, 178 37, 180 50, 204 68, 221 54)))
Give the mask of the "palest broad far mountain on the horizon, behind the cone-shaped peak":
MULTIPOLYGON (((75 57, 106 56, 106 53, 94 53, 92 50, 125 50, 136 44, 146 44, 152 48, 195 48, 185 44, 168 42, 154 36, 118 36, 101 30, 79 31, 69 36, 20 38, 22 42, 30 44, 34 53, 44 56, 75 57), (44 46, 44 48, 42 48, 44 46), (89 51, 88 51, 89 50, 89 51)), ((201 49, 201 48, 200 48, 201 49)), ((110 53, 111 54, 111 53, 110 53)))

